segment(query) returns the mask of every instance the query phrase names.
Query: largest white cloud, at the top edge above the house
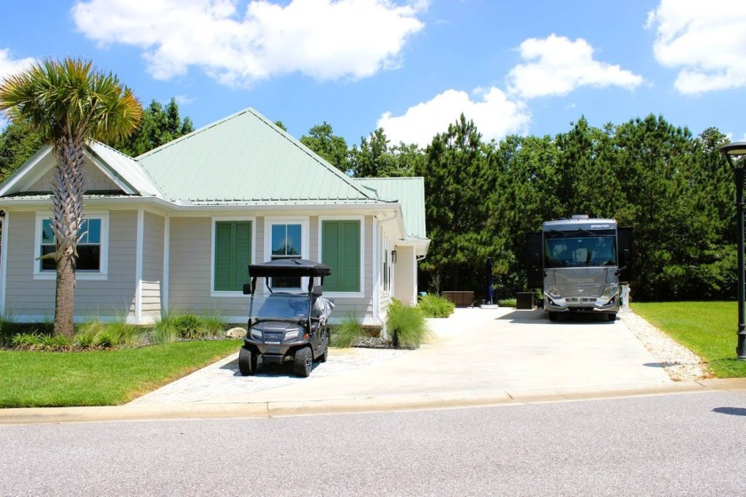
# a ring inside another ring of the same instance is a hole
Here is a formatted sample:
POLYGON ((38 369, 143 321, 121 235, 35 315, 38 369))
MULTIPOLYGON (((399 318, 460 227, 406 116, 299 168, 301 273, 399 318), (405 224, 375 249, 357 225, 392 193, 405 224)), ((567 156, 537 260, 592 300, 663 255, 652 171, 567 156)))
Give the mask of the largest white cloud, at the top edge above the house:
POLYGON ((319 80, 363 78, 397 67, 409 36, 425 27, 427 1, 89 0, 76 27, 101 45, 144 50, 157 79, 202 69, 221 83, 250 85, 300 72, 319 80))

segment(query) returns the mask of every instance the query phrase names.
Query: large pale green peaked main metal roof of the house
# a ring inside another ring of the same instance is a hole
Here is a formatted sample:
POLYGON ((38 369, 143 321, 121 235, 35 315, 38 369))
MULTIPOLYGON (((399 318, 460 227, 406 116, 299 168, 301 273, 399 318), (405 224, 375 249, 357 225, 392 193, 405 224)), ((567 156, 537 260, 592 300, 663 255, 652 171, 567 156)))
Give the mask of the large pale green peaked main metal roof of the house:
POLYGON ((171 201, 206 205, 381 202, 253 109, 135 160, 171 201))

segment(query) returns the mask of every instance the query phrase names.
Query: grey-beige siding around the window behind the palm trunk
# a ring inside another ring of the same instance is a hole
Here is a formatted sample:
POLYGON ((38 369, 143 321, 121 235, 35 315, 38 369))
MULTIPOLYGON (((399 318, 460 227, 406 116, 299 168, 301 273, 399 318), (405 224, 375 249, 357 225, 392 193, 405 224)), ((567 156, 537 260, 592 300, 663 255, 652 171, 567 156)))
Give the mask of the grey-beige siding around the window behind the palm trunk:
MULTIPOLYGON (((13 212, 8 229, 5 312, 20 320, 52 319, 55 280, 33 277, 36 212, 13 212)), ((77 319, 131 316, 135 296, 137 211, 109 213, 107 280, 78 279, 75 288, 77 319)))

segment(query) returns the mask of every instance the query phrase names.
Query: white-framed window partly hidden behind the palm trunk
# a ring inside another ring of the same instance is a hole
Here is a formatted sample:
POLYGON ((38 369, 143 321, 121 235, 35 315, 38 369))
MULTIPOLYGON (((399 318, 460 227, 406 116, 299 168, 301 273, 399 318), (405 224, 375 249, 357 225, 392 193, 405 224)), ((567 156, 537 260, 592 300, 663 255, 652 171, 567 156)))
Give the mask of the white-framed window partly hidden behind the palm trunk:
MULTIPOLYGON (((89 215, 81 224, 81 237, 77 244, 75 272, 85 279, 87 275, 106 275, 107 273, 107 229, 108 216, 89 215)), ((40 278, 52 275, 57 270, 57 263, 52 258, 56 249, 52 219, 43 215, 36 216, 37 245, 35 274, 40 278), (49 257, 44 257, 49 256, 49 257)))

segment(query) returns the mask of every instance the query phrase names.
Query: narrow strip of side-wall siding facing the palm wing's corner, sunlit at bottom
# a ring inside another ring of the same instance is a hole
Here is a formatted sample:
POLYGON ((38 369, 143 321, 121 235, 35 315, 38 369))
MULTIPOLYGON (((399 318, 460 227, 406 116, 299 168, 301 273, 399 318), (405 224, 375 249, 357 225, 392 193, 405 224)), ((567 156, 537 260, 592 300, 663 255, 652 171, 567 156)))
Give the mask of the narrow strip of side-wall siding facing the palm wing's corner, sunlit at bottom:
POLYGON ((165 219, 149 212, 144 217, 142 247, 142 319, 154 321, 161 317, 163 295, 163 234, 165 219))

